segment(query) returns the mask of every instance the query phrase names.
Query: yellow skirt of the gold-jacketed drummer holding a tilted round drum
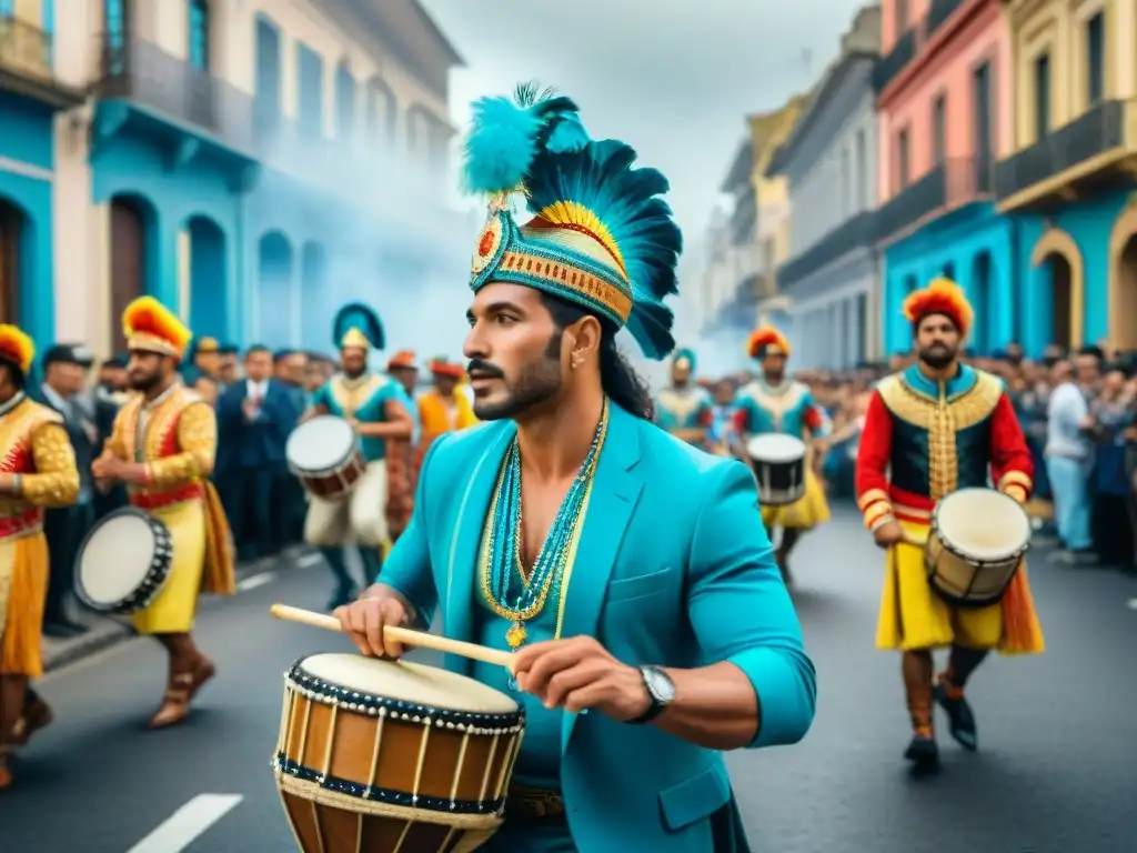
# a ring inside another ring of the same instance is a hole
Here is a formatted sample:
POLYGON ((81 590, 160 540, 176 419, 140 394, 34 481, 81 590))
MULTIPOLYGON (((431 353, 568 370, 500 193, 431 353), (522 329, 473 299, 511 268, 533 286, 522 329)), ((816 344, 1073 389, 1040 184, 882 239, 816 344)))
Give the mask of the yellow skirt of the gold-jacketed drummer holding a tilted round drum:
POLYGON ((201 500, 150 511, 169 528, 174 561, 161 594, 131 620, 139 633, 185 633, 193 627, 206 557, 206 512, 201 500))

